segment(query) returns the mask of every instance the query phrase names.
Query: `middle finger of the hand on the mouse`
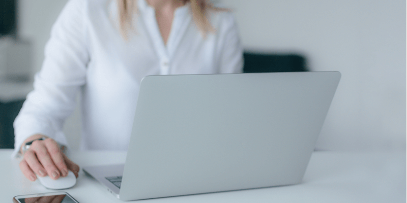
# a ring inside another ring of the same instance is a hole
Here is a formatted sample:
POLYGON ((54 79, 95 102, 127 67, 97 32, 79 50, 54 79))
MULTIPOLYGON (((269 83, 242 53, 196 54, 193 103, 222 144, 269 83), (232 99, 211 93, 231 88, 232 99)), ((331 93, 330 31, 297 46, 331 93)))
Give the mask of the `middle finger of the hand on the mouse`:
POLYGON ((52 161, 45 144, 40 141, 35 141, 31 145, 30 149, 33 148, 33 151, 37 155, 38 160, 41 165, 45 168, 48 176, 56 180, 60 177, 60 171, 56 168, 55 163, 52 161))

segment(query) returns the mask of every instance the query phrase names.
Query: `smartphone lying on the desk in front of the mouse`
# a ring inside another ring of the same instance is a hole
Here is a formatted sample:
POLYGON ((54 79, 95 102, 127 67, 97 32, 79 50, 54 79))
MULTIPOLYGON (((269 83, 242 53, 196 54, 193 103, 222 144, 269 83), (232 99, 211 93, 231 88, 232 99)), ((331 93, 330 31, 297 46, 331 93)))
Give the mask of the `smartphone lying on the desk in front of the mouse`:
POLYGON ((79 203, 67 192, 27 194, 13 197, 14 203, 79 203))

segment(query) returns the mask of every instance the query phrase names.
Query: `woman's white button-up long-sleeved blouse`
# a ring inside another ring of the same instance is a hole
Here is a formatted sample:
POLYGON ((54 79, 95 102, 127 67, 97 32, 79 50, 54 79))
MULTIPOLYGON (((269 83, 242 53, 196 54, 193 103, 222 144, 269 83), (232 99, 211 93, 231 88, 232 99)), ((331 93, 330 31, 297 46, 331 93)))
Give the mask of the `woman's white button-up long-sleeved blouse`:
POLYGON ((127 150, 140 81, 148 75, 240 73, 243 49, 229 12, 210 11, 203 38, 189 4, 175 11, 165 45, 155 10, 138 0, 123 40, 116 1, 70 0, 51 30, 42 69, 14 121, 15 156, 28 137, 67 145, 63 123, 80 92, 81 149, 127 150))

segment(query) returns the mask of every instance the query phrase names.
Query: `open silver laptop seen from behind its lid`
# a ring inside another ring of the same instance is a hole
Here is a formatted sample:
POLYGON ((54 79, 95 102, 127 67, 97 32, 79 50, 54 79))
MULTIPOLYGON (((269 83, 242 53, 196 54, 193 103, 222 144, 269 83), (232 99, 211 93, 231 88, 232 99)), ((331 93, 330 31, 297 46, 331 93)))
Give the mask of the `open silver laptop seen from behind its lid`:
POLYGON ((83 170, 122 200, 297 184, 339 72, 148 76, 124 165, 83 170))

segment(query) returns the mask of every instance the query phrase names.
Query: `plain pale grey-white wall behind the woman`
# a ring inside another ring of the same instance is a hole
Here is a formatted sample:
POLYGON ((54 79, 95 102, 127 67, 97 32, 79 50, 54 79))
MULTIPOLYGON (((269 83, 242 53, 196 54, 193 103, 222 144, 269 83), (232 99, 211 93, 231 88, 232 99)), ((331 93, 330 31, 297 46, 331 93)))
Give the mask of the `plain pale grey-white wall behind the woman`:
MULTIPOLYGON (((19 35, 34 46, 34 71, 67 0, 20 0, 19 35)), ((317 147, 406 148, 406 2, 403 0, 222 0, 247 49, 305 54, 312 71, 342 79, 317 147)), ((65 126, 77 148, 79 113, 65 126)))

